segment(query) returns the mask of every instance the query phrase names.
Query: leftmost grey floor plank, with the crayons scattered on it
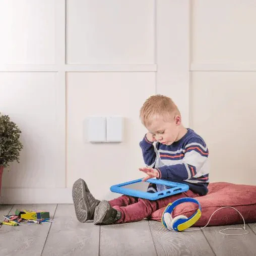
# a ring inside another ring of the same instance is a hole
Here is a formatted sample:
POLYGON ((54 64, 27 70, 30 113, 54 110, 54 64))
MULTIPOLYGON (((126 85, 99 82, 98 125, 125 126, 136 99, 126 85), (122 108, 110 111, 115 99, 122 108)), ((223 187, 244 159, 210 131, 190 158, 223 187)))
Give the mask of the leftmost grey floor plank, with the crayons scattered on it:
MULTIPOLYGON (((56 205, 14 205, 11 214, 15 210, 45 210, 53 217, 56 205)), ((41 255, 45 239, 50 228, 50 223, 22 224, 20 226, 3 225, 0 229, 0 255, 41 255)))

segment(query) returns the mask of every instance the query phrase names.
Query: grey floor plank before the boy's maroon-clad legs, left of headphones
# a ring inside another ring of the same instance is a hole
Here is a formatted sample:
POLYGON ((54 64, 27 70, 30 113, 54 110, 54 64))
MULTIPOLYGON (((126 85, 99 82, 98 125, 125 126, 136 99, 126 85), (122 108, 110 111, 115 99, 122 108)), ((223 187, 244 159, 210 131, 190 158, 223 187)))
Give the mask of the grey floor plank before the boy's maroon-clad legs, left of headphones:
POLYGON ((156 255, 147 220, 100 226, 100 256, 156 255))

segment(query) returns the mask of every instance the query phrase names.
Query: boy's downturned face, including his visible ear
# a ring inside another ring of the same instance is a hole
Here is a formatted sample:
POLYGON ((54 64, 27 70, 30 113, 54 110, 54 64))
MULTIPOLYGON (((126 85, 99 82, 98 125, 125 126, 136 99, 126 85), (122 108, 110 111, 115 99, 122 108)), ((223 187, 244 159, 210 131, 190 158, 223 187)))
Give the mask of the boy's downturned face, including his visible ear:
POLYGON ((177 141, 179 135, 180 117, 175 116, 170 121, 164 121, 163 118, 155 119, 147 126, 149 133, 160 143, 171 145, 177 141))

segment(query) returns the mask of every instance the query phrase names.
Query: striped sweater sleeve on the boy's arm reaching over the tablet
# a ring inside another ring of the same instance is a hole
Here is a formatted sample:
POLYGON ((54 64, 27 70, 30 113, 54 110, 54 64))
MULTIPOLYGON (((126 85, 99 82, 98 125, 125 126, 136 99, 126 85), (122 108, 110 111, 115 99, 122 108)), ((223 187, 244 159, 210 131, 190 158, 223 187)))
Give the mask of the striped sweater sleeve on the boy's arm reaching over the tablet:
POLYGON ((209 155, 205 142, 200 138, 191 138, 181 154, 183 155, 182 163, 156 168, 159 179, 188 180, 201 176, 201 169, 209 155))

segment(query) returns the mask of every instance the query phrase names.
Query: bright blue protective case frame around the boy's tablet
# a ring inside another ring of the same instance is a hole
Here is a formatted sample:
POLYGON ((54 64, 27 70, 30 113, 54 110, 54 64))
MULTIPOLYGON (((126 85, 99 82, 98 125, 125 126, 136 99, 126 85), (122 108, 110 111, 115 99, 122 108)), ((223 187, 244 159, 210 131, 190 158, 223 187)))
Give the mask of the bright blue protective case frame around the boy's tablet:
POLYGON ((163 180, 163 179, 155 179, 155 178, 150 178, 150 179, 146 180, 145 182, 148 182, 148 185, 149 185, 149 183, 155 183, 155 184, 162 184, 162 185, 170 186, 171 188, 168 188, 168 189, 165 189, 162 191, 158 191, 156 193, 149 193, 147 191, 144 192, 144 191, 141 191, 138 189, 123 187, 125 185, 134 184, 134 183, 141 182, 141 181, 142 181, 142 178, 124 182, 124 183, 120 183, 120 184, 116 184, 116 185, 112 185, 112 186, 110 186, 110 191, 119 193, 119 194, 137 197, 137 198, 157 200, 160 198, 169 197, 169 196, 172 196, 172 195, 175 195, 178 193, 185 192, 189 189, 189 186, 186 184, 172 182, 172 181, 163 180))

